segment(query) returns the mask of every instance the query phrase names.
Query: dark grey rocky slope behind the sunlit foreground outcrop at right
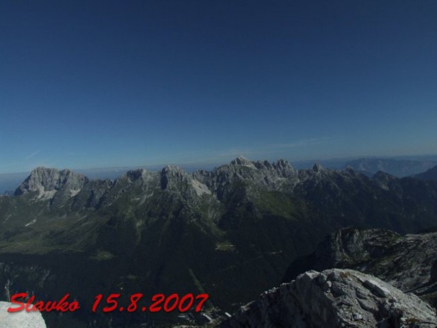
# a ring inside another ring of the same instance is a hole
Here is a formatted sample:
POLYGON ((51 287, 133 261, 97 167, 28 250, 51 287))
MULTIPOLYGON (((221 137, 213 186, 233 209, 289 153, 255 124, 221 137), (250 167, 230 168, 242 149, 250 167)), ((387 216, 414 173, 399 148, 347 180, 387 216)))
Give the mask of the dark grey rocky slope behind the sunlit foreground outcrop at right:
POLYGON ((437 305, 437 232, 401 236, 382 229, 343 229, 317 247, 306 267, 297 262, 290 268, 301 272, 356 269, 437 305))

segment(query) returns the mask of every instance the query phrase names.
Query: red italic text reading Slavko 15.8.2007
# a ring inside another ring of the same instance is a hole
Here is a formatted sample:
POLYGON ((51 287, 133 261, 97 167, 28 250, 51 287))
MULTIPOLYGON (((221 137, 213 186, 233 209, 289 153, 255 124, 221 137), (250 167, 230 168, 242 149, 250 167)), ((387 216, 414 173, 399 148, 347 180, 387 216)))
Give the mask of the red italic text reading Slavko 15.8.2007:
MULTIPOLYGON (((92 304, 92 312, 188 312, 194 310, 200 312, 202 305, 209 298, 208 294, 199 294, 194 296, 193 294, 178 295, 176 293, 168 296, 164 294, 156 294, 151 297, 151 301, 146 301, 142 293, 138 292, 132 294, 129 297, 129 301, 126 304, 120 302, 120 294, 111 294, 104 298, 103 294, 99 294, 94 297, 94 303, 92 304)), ((79 301, 69 301, 70 294, 64 295, 59 301, 35 301, 35 297, 28 298, 27 293, 21 292, 11 297, 11 303, 14 304, 8 308, 8 312, 75 312, 79 310, 79 301)))

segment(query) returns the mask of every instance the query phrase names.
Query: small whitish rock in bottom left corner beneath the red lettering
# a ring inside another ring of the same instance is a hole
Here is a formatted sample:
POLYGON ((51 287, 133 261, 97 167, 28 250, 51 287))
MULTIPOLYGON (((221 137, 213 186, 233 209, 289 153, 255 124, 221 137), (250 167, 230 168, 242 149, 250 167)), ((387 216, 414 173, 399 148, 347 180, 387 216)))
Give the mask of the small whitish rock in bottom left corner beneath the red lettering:
POLYGON ((1 328, 47 328, 40 312, 9 313, 8 308, 11 306, 12 303, 0 302, 1 328))

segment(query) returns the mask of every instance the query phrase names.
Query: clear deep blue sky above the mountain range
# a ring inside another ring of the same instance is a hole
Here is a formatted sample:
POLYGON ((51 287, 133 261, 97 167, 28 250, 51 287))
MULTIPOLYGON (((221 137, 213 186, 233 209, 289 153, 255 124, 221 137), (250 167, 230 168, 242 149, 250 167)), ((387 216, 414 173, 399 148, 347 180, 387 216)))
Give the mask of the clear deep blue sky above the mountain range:
POLYGON ((437 153, 437 1, 0 1, 0 173, 437 153))

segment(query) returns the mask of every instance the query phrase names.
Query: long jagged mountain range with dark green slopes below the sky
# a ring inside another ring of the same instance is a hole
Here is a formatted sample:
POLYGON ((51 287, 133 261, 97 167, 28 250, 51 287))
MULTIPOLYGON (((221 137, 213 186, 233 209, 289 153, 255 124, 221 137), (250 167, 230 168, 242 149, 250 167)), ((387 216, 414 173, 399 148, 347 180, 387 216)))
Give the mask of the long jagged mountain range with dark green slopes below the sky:
MULTIPOLYGON (((188 174, 168 165, 91 180, 34 169, 0 197, 0 299, 67 292, 83 308, 120 292, 207 292, 211 316, 233 312, 279 284, 289 265, 341 228, 411 233, 437 226, 437 182, 369 177, 352 168, 243 157, 188 174)), ((302 267, 304 269, 304 267, 302 267)), ((303 271, 302 271, 303 272, 303 271)), ((48 327, 144 327, 196 314, 43 314, 48 327)))

